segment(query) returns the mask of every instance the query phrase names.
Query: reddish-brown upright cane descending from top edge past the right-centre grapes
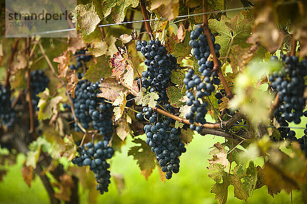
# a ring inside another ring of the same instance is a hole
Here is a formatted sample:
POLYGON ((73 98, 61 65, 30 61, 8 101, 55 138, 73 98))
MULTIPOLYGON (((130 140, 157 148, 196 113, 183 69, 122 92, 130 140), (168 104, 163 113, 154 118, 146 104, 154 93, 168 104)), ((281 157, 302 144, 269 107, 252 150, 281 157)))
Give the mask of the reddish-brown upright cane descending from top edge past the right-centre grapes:
MULTIPOLYGON (((208 5, 207 0, 203 0, 203 12, 204 13, 207 12, 207 5, 208 5)), ((215 50, 214 50, 214 45, 213 45, 213 42, 212 42, 212 39, 211 39, 211 36, 210 36, 209 27, 208 27, 208 15, 204 15, 203 20, 204 20, 204 23, 203 23, 204 33, 205 33, 207 40, 208 40, 210 53, 213 56, 212 72, 216 70, 216 73, 217 73, 218 77, 220 78, 221 83, 223 84, 223 87, 225 89, 227 97, 229 99, 231 99, 233 97, 233 94, 230 91, 228 84, 226 82, 226 79, 223 75, 223 72, 222 72, 222 69, 221 69, 221 66, 220 66, 220 62, 218 62, 218 60, 217 60, 216 53, 215 53, 215 50)))

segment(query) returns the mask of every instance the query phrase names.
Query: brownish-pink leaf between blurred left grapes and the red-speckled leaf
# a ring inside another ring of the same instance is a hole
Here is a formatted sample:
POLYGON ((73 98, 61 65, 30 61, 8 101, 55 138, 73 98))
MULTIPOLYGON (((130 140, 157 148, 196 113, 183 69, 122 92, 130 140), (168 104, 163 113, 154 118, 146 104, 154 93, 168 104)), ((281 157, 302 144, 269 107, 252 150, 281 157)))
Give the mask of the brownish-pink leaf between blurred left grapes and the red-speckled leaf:
POLYGON ((117 98, 120 91, 123 91, 125 94, 127 93, 127 89, 120 85, 115 78, 103 79, 99 85, 99 89, 101 93, 98 94, 98 97, 104 97, 111 101, 117 98))

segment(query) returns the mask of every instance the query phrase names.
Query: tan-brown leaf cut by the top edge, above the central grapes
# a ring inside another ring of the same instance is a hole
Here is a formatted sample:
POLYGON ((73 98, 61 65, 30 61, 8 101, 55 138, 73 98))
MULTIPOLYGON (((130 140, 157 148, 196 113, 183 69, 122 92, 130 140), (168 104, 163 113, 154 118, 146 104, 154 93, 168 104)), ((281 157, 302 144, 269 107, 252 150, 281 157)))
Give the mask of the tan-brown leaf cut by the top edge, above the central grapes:
POLYGON ((152 0, 150 10, 156 10, 157 13, 166 17, 167 20, 173 20, 179 15, 179 0, 152 0))

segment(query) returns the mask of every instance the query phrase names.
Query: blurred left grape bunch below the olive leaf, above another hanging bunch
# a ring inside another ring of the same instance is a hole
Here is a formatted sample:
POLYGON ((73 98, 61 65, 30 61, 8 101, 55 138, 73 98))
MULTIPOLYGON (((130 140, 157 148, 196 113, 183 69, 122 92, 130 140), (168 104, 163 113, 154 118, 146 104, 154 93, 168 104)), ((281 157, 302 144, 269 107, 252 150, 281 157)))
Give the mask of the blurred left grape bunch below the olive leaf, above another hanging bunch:
MULTIPOLYGON (((106 102, 110 101, 108 99, 97 97, 101 93, 98 85, 99 82, 79 81, 73 103, 76 117, 82 127, 88 129, 91 124, 108 141, 113 132, 112 104, 106 102)), ((81 131, 77 124, 75 124, 75 131, 81 131)))

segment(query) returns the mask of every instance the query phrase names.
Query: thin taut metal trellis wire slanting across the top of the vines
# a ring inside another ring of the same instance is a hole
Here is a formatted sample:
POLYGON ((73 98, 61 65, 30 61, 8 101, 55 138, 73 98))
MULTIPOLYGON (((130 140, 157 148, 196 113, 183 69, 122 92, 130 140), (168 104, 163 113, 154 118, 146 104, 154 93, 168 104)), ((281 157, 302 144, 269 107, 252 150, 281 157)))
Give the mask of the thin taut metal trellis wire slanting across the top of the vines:
MULTIPOLYGON (((207 15, 207 14, 214 14, 214 13, 225 13, 225 12, 233 12, 233 11, 243 11, 247 9, 253 9, 254 7, 241 7, 241 8, 234 8, 234 9, 225 9, 225 10, 220 10, 220 11, 211 11, 211 12, 206 12, 206 13, 195 13, 195 14, 189 14, 189 15, 182 15, 182 16, 177 16, 176 18, 186 18, 186 17, 192 17, 192 16, 201 16, 201 15, 207 15)), ((130 24, 130 23, 138 23, 138 22, 146 22, 146 21, 156 21, 156 20, 166 20, 166 18, 155 18, 155 19, 148 19, 148 20, 133 20, 133 21, 127 21, 127 22, 119 22, 119 23, 108 23, 108 24, 102 24, 98 25, 98 27, 108 27, 112 25, 122 25, 122 24, 130 24)), ((54 33, 62 33, 62 32, 70 32, 70 31, 75 31, 76 28, 72 29, 61 29, 61 30, 54 30, 54 31, 42 31, 42 32, 37 32, 33 33, 31 35, 29 34, 18 34, 18 35, 9 35, 6 36, 7 38, 22 38, 22 37, 31 37, 31 36, 36 36, 36 35, 48 35, 48 34, 54 34, 54 33)))

